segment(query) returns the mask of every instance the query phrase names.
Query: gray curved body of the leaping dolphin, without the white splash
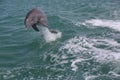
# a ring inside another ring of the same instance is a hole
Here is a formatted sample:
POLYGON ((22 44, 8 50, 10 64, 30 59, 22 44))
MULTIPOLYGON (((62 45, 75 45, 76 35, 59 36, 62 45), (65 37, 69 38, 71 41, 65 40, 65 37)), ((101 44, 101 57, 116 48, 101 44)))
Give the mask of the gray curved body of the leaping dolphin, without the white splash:
POLYGON ((38 8, 33 8, 27 13, 24 23, 26 28, 32 26, 35 31, 39 31, 37 25, 40 24, 44 27, 48 27, 45 14, 38 8))

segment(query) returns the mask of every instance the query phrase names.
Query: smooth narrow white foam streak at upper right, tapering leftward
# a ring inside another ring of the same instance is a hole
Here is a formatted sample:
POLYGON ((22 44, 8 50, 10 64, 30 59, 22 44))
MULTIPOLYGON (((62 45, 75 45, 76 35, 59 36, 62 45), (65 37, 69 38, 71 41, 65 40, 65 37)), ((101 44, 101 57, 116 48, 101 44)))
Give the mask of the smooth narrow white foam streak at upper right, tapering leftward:
POLYGON ((120 31, 120 21, 119 20, 106 20, 106 19, 91 19, 85 22, 76 22, 75 25, 93 25, 100 27, 108 27, 117 31, 120 31))

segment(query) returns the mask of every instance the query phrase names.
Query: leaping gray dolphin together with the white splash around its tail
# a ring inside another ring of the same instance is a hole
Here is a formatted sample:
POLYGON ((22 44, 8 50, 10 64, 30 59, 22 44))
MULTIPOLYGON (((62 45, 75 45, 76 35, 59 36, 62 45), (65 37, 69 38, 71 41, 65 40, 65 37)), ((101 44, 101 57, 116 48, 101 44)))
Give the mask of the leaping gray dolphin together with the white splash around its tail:
POLYGON ((24 24, 27 29, 32 26, 37 32, 39 32, 37 25, 42 25, 41 29, 46 42, 55 41, 57 38, 61 37, 61 32, 48 28, 47 17, 39 8, 33 8, 27 13, 24 24))

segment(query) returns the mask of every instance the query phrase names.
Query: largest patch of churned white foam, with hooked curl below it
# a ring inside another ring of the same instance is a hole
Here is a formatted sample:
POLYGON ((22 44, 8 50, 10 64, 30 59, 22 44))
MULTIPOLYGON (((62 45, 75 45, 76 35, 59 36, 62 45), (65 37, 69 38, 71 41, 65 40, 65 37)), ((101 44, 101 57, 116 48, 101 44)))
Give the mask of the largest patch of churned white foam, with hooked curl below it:
MULTIPOLYGON (((95 59, 96 62, 109 62, 113 60, 120 60, 120 50, 119 50, 120 44, 117 43, 113 39, 89 39, 85 37, 74 37, 69 39, 61 48, 60 51, 65 51, 69 54, 80 54, 81 52, 87 52, 89 55, 91 55, 90 59, 95 59), (95 45, 107 45, 108 48, 99 48, 95 47, 95 45), (118 47, 118 48, 117 48, 118 47)), ((80 56, 82 57, 82 56, 80 56)), ((72 70, 76 71, 78 69, 78 66, 76 63, 79 63, 81 61, 86 61, 88 59, 84 59, 84 57, 72 60, 72 70)))

